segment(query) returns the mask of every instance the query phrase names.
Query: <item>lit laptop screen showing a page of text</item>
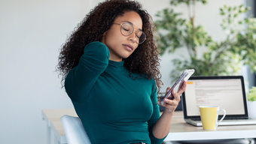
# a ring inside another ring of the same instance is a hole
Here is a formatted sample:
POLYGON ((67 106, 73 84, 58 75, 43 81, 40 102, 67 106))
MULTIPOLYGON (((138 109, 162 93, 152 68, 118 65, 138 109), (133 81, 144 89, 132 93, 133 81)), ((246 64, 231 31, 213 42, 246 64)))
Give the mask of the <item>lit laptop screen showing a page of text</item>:
POLYGON ((219 106, 227 115, 245 114, 241 80, 187 80, 185 95, 187 116, 200 115, 200 106, 219 106))

